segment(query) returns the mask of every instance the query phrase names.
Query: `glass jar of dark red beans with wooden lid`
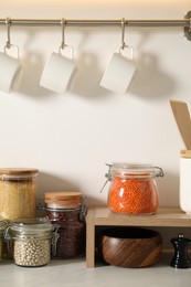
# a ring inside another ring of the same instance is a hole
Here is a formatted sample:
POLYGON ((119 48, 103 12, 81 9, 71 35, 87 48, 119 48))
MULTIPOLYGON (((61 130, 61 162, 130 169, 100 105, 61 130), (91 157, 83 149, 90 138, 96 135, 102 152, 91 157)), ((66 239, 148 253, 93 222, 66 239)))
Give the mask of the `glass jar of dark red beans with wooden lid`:
POLYGON ((45 196, 46 217, 54 228, 52 257, 76 258, 85 254, 84 196, 81 192, 47 192, 45 196))

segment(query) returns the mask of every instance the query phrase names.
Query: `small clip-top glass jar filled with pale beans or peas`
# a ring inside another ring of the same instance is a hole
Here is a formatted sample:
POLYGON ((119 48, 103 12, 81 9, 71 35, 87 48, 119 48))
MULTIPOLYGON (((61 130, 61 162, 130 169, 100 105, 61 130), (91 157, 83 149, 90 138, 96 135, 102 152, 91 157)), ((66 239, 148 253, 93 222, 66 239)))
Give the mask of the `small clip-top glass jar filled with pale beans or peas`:
POLYGON ((51 258, 52 224, 46 219, 20 219, 6 231, 15 265, 40 267, 51 258))

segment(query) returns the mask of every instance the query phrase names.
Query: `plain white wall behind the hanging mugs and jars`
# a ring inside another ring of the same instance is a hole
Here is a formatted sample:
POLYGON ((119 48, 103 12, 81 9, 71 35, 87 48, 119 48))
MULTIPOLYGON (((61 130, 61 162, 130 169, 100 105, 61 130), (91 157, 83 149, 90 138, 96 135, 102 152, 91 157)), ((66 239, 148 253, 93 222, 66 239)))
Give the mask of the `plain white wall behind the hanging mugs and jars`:
MULTIPOLYGON (((1 18, 183 19, 190 0, 1 0, 1 18)), ((105 162, 152 162, 161 206, 179 205, 179 153, 184 148, 169 99, 191 104, 191 42, 182 28, 127 28, 139 73, 130 91, 116 95, 99 87, 102 74, 120 45, 119 28, 66 28, 78 75, 74 88, 56 95, 39 86, 43 65, 61 43, 60 28, 11 28, 20 47, 23 83, 0 92, 0 167, 40 170, 39 193, 75 189, 89 204, 105 204, 105 162)), ((0 50, 7 41, 0 28, 0 50)))

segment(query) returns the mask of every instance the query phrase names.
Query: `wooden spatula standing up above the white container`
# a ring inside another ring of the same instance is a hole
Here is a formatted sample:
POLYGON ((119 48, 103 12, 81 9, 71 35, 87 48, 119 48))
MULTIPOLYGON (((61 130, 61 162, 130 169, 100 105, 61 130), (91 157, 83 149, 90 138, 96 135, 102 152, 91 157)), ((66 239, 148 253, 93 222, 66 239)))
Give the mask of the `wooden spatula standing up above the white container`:
POLYGON ((173 99, 170 100, 170 105, 185 148, 191 150, 191 119, 188 105, 173 99))

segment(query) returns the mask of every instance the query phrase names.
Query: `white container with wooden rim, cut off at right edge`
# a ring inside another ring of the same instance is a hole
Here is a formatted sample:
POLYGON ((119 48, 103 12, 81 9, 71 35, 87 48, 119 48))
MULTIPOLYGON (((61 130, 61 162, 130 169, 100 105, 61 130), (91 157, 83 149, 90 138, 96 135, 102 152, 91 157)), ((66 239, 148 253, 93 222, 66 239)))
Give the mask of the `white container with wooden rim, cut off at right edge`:
POLYGON ((191 150, 180 153, 180 208, 191 214, 191 150))

